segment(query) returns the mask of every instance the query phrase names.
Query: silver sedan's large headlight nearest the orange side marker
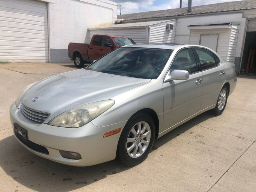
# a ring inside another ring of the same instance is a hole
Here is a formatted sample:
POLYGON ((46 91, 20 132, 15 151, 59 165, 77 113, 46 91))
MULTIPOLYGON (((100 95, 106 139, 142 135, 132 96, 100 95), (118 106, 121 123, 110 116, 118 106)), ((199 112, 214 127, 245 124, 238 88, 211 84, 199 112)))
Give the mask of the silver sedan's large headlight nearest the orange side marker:
POLYGON ((85 104, 54 117, 48 124, 58 127, 81 127, 104 113, 114 105, 114 100, 103 100, 85 104))

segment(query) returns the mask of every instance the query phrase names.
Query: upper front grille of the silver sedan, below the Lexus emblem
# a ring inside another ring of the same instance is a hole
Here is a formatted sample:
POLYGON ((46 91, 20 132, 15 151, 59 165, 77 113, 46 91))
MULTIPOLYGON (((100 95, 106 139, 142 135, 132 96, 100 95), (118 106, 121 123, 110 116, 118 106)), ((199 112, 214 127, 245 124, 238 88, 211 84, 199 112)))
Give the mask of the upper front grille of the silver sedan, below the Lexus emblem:
POLYGON ((24 116, 28 117, 33 121, 40 122, 40 123, 43 123, 50 115, 50 113, 45 113, 42 111, 36 111, 34 109, 30 109, 23 104, 21 104, 20 111, 24 116))

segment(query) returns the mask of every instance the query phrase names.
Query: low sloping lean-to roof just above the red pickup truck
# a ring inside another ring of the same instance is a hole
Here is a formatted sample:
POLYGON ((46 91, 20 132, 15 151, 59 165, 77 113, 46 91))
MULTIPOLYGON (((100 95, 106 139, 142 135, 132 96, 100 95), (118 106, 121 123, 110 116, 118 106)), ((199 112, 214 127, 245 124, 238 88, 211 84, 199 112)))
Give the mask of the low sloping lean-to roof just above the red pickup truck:
POLYGON ((106 29, 106 28, 134 28, 134 27, 147 27, 150 25, 155 25, 158 23, 163 23, 167 21, 172 21, 170 19, 168 20, 158 20, 158 21, 144 21, 144 22, 135 22, 135 23, 120 23, 120 24, 112 24, 112 25, 107 25, 107 26, 101 26, 101 27, 96 27, 96 28, 90 28, 88 30, 93 30, 93 29, 106 29))

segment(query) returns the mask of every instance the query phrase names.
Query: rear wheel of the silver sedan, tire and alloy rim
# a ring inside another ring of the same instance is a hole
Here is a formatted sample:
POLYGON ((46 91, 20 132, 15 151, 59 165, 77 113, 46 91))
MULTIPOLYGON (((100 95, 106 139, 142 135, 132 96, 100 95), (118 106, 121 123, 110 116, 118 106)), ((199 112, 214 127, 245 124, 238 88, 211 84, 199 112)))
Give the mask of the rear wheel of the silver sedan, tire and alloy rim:
POLYGON ((221 115, 226 108, 228 101, 228 88, 226 86, 222 87, 213 113, 215 115, 221 115))

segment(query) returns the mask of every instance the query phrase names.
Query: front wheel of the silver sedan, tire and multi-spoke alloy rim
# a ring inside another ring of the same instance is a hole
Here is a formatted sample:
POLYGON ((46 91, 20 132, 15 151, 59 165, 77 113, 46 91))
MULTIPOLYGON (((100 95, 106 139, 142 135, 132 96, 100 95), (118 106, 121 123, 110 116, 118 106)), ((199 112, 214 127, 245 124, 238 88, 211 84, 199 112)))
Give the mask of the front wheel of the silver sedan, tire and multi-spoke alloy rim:
POLYGON ((124 126, 117 146, 117 158, 126 166, 144 161, 155 139, 153 119, 146 113, 133 116, 124 126))

